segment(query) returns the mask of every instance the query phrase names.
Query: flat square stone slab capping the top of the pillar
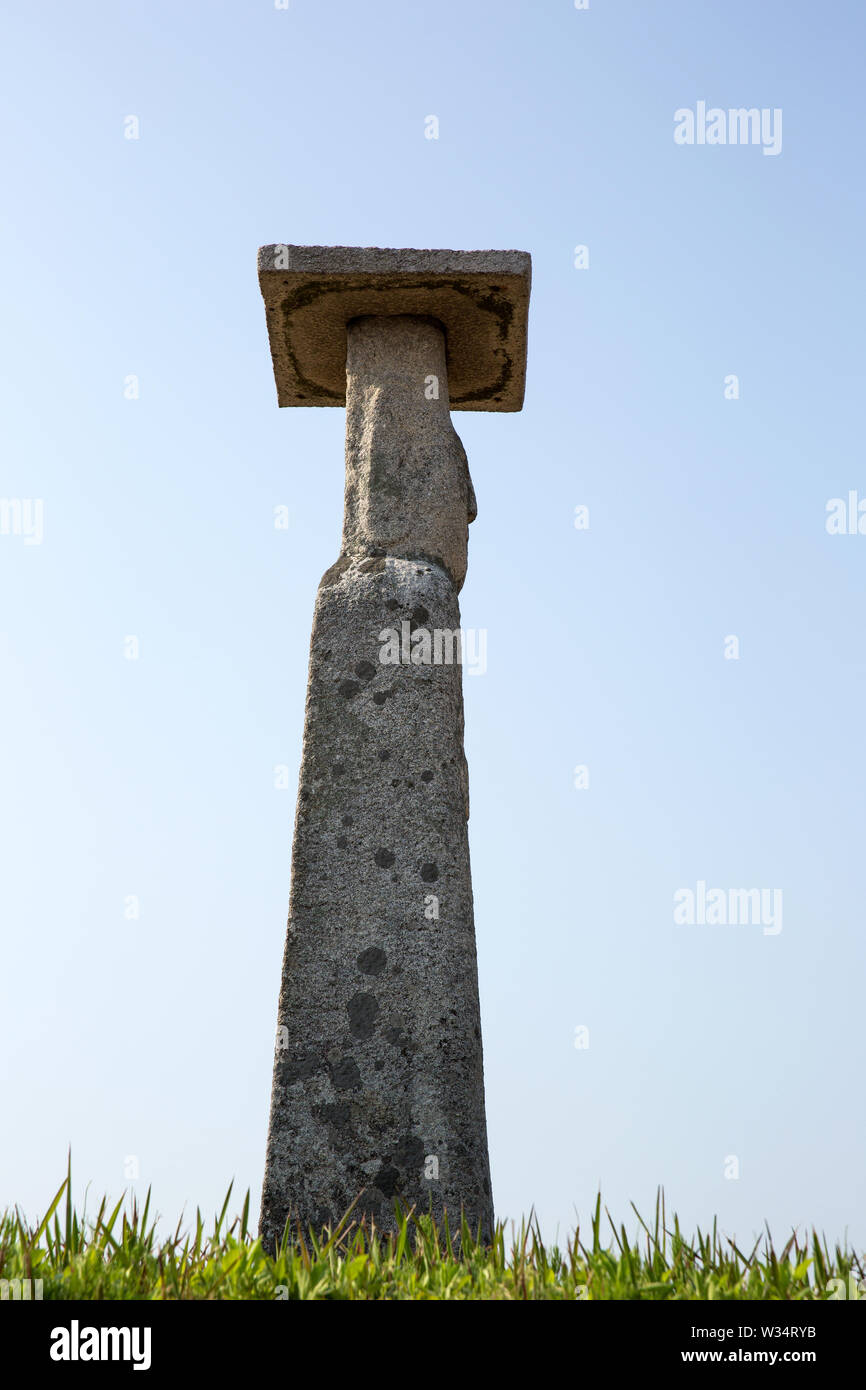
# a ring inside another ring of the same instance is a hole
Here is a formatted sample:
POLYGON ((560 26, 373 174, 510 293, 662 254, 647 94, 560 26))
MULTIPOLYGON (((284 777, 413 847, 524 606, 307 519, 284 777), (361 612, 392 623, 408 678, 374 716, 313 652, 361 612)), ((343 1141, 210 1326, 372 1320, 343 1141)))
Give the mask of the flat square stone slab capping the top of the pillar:
POLYGON ((349 320, 423 314, 445 329, 452 410, 520 410, 531 265, 528 252, 261 246, 277 400, 345 406, 349 320))

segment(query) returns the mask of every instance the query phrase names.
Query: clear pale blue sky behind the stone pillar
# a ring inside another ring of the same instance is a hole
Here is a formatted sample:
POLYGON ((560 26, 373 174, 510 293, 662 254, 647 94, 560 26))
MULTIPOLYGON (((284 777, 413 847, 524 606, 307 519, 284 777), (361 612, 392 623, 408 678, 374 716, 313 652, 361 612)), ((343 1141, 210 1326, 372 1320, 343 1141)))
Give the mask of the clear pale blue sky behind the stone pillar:
POLYGON ((343 413, 277 409, 256 249, 517 247, 524 410, 455 416, 498 1213, 664 1184, 687 1225, 866 1244, 866 535, 824 525, 866 496, 862 6, 4 29, 0 495, 44 534, 0 535, 0 1205, 44 1209, 70 1143, 76 1190, 136 1155, 171 1220, 259 1201, 343 413), (676 145, 701 100, 781 108, 781 153, 676 145), (781 933, 676 926, 701 880, 781 888, 781 933))

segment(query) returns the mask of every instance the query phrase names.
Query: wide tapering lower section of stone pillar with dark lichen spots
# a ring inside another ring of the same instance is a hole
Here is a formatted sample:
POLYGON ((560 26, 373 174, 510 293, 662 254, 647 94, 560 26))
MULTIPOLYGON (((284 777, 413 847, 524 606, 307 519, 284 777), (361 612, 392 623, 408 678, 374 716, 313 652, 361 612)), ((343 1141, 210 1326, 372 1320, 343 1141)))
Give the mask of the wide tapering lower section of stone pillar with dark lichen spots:
MULTIPOLYGON (((318 591, 260 1232, 493 1222, 461 667, 382 664, 459 628, 438 564, 342 559, 318 591), (391 646, 393 653, 393 644, 391 646)), ((445 639, 439 656, 452 648, 445 639)), ((459 652, 459 645, 457 645, 459 652)), ((435 655, 435 651, 434 651, 435 655)))

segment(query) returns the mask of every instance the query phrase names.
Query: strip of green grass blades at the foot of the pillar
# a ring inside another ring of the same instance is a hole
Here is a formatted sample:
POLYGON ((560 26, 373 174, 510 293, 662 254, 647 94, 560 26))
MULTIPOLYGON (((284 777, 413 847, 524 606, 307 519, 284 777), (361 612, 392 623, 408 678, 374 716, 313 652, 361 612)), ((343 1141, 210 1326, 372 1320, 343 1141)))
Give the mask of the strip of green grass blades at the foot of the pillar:
MULTIPOLYGON (((863 1261, 812 1232, 792 1234, 777 1254, 770 1233, 742 1251, 699 1230, 685 1238, 662 1194, 648 1225, 637 1218, 631 1237, 619 1229, 602 1198, 589 1230, 562 1247, 545 1245, 534 1220, 512 1234, 499 1226, 491 1245, 457 1223, 438 1233, 427 1216, 409 1213, 396 1234, 359 1226, 346 1213, 335 1230, 310 1233, 307 1243, 286 1233, 277 1258, 249 1229, 249 1193, 231 1225, 229 1187, 222 1211, 206 1234, 200 1212, 195 1232, 158 1240, 150 1215, 133 1202, 113 1211, 103 1200, 95 1219, 71 1201, 71 1175, 38 1226, 15 1209, 0 1218, 0 1280, 42 1280, 49 1298, 496 1298, 496 1300, 813 1300, 844 1297, 833 1280, 866 1276, 863 1261), (603 1227, 603 1229, 602 1229, 603 1227), (584 1236, 587 1238, 584 1238, 584 1236)), ((6 1290, 14 1295, 14 1286, 6 1290)))

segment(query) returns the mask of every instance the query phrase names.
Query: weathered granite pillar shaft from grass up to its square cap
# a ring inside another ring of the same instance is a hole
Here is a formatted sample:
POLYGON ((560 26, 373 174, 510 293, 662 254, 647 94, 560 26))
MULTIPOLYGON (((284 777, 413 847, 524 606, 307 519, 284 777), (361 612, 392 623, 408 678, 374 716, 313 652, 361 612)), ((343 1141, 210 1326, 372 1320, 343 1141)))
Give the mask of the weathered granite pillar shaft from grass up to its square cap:
MULTIPOLYGON (((361 291, 373 278, 381 271, 361 291)), ((528 295, 528 267, 525 281, 528 295)), ((452 1229, 461 1209, 485 1237, 493 1225, 457 605, 475 499, 450 421, 442 306, 428 291, 366 313, 382 296, 360 297, 339 324, 345 520, 313 620, 260 1220, 268 1247, 286 1216, 334 1223, 359 1194, 353 1215, 384 1229, 395 1200, 432 1205, 438 1220, 448 1211, 452 1229)), ((288 322, 297 364, 306 339, 285 300, 278 342, 288 322)), ((491 379, 505 391, 500 374, 491 379)), ((289 389, 300 385, 310 377, 296 366, 289 389)))

